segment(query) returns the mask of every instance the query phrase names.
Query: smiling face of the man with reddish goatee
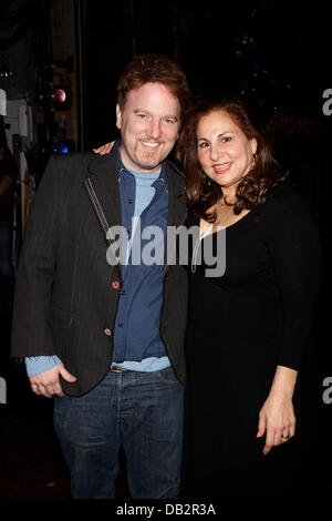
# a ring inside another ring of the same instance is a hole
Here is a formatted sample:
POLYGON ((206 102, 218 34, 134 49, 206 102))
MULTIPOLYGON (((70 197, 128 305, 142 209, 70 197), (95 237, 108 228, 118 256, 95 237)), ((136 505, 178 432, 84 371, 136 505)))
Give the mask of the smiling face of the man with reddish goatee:
POLYGON ((121 159, 134 172, 158 172, 179 132, 180 104, 162 83, 129 91, 123 110, 116 105, 121 159))

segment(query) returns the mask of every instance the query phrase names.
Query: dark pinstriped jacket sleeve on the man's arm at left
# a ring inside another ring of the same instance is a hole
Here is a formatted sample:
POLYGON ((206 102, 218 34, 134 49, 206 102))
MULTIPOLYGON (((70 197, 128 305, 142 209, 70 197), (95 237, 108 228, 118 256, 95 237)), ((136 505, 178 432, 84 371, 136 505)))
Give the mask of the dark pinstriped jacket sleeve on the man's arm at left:
POLYGON ((60 159, 52 156, 33 197, 19 259, 11 356, 54 355, 49 327, 58 248, 60 159))

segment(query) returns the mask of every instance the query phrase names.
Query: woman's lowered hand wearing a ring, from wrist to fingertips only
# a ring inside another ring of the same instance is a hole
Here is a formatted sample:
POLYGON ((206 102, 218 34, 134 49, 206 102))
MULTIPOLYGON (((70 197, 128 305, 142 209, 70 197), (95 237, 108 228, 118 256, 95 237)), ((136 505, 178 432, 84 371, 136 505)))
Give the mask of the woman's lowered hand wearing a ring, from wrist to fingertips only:
POLYGON ((270 392, 259 412, 257 432, 257 438, 266 433, 264 456, 272 447, 284 443, 294 436, 295 421, 292 399, 270 392))

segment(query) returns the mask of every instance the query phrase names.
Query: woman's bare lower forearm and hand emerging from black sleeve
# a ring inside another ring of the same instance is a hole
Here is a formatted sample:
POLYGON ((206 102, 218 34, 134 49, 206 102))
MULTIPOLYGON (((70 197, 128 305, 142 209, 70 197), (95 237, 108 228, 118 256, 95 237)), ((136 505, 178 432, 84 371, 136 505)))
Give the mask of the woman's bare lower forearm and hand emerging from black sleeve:
POLYGON ((259 412, 257 438, 266 433, 263 454, 272 447, 284 443, 295 433, 295 415, 292 402, 298 371, 277 366, 270 394, 259 412))

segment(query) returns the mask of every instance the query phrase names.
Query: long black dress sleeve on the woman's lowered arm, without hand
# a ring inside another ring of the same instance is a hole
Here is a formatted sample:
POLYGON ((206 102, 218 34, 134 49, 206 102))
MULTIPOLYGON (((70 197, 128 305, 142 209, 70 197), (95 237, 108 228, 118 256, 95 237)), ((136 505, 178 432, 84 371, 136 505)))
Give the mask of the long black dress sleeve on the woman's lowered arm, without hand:
POLYGON ((283 309, 278 365, 299 370, 321 288, 320 237, 304 202, 292 186, 276 190, 267 204, 267 246, 283 309))

